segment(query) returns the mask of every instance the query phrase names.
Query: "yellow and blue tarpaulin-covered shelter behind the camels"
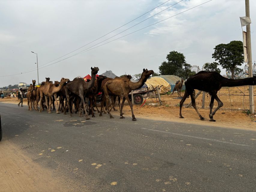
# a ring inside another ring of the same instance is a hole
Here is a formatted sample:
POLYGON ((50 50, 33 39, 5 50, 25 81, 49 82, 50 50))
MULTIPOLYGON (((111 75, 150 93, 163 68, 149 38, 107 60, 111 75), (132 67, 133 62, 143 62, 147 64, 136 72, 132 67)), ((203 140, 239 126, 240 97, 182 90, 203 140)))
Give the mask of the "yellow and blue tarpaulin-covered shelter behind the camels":
MULTIPOLYGON (((181 78, 175 75, 159 75, 159 76, 153 76, 146 80, 146 85, 149 89, 155 88, 156 86, 161 86, 160 88, 160 94, 167 93, 168 91, 173 91, 173 88, 175 87, 175 83, 177 81, 181 81, 181 78)), ((185 82, 185 80, 184 80, 185 82)), ((185 90, 185 84, 183 82, 182 89, 185 90)))

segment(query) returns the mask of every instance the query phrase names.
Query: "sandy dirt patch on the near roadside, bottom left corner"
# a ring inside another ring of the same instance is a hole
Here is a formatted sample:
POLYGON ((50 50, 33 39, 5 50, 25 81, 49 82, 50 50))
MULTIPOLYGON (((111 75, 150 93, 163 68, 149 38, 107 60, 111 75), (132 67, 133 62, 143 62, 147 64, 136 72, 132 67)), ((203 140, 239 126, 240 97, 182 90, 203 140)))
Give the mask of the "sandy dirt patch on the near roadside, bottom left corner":
POLYGON ((63 179, 42 169, 8 140, 1 141, 0 154, 0 191, 71 191, 63 179))

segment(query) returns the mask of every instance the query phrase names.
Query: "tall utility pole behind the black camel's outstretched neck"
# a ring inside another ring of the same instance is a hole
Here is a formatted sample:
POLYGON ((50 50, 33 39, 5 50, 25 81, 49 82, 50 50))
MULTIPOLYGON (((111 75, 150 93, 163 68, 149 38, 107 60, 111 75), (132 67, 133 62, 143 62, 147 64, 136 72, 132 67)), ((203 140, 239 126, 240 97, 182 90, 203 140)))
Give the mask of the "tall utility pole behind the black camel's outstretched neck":
MULTIPOLYGON (((245 16, 250 17, 249 0, 245 0, 245 16)), ((247 57, 248 57, 248 73, 249 77, 252 77, 252 59, 251 59, 251 26, 246 26, 246 45, 247 45, 247 57)), ((254 114, 254 99, 253 99, 253 85, 249 85, 249 99, 250 99, 250 112, 254 114)))

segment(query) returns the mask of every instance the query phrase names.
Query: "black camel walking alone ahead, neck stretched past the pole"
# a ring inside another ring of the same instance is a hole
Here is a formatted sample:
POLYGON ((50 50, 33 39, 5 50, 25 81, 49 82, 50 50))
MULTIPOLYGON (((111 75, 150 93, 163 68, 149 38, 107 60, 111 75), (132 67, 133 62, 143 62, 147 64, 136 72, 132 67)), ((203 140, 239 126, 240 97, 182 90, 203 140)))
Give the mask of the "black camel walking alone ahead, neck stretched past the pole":
POLYGON ((215 122, 213 119, 214 114, 216 111, 223 106, 223 103, 217 96, 218 90, 221 89, 221 87, 235 87, 235 86, 242 86, 242 85, 256 85, 256 76, 244 79, 228 79, 223 76, 221 76, 219 73, 215 71, 200 71, 197 74, 191 76, 188 78, 188 80, 185 82, 185 93, 183 95, 182 100, 179 103, 179 118, 184 118, 181 115, 182 105, 184 101, 186 100, 187 96, 191 96, 191 102, 192 106, 196 110, 197 114, 199 115, 201 120, 204 120, 204 118, 200 115, 200 113, 197 110, 196 103, 195 103, 195 90, 205 91, 208 92, 212 97, 210 101, 210 121, 215 122), (214 99, 218 102, 218 107, 212 112, 213 102, 214 99))

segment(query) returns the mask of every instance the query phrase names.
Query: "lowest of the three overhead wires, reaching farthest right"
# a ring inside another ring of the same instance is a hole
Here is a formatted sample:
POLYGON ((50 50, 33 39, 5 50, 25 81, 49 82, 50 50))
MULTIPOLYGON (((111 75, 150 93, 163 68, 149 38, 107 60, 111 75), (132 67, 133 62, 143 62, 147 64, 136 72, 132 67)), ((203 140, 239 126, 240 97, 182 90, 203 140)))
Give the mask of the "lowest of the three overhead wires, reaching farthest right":
MULTIPOLYGON (((206 4, 206 3, 210 2, 210 1, 212 1, 212 0, 206 1, 206 2, 204 2, 204 3, 202 3, 202 4, 199 4, 199 5, 197 5, 197 6, 194 6, 194 7, 190 8, 190 9, 187 9, 187 10, 185 10, 185 11, 182 11, 182 12, 180 12, 180 13, 177 13, 176 15, 173 15, 173 16, 170 16, 170 17, 168 17, 168 18, 166 18, 166 19, 163 19, 163 20, 161 20, 161 21, 155 22, 155 23, 153 23, 153 24, 151 24, 151 25, 149 25, 149 26, 146 26, 146 27, 143 27, 143 28, 141 28, 141 29, 138 29, 138 30, 136 30, 136 31, 134 31, 134 32, 131 32, 131 33, 127 34, 127 35, 124 35, 124 36, 122 36, 122 37, 116 38, 116 39, 114 39, 114 40, 112 40, 112 41, 109 41, 109 42, 107 42, 107 43, 104 43, 104 44, 101 44, 101 45, 99 45, 99 46, 96 46, 96 47, 94 47, 94 48, 92 48, 92 49, 95 49, 95 48, 97 48, 97 47, 103 46, 103 45, 108 44, 108 43, 110 43, 110 42, 116 41, 116 40, 118 40, 118 39, 120 39, 120 38, 123 38, 123 37, 125 37, 125 36, 131 35, 131 34, 133 34, 133 33, 135 33, 135 32, 138 32, 138 31, 140 31, 140 30, 142 30, 142 29, 145 29, 145 28, 148 28, 148 27, 150 27, 150 26, 153 26, 153 25, 155 25, 155 24, 157 24, 157 23, 163 22, 163 21, 165 21, 165 20, 167 20, 167 19, 170 19, 170 18, 172 18, 172 17, 174 17, 174 16, 177 16, 177 15, 179 15, 179 14, 181 14, 181 13, 184 13, 184 12, 186 12, 186 11, 188 11, 188 10, 194 9, 194 8, 196 8, 196 7, 199 7, 200 5, 206 4)), ((96 45, 97 45, 97 44, 96 44, 96 45)), ((94 45, 94 46, 95 46, 95 45, 94 45)), ((93 46, 92 46, 92 47, 93 47, 93 46)), ((90 48, 91 48, 91 47, 90 47, 90 48)), ((69 56, 69 57, 67 57, 67 58, 64 58, 64 59, 62 59, 62 60, 60 60, 60 61, 63 61, 63 60, 65 60, 65 59, 68 59, 68 58, 71 58, 71 57, 74 57, 74 56, 76 56, 76 55, 79 55, 79 54, 81 54, 81 53, 83 53, 83 52, 87 52, 87 51, 92 50, 92 49, 87 48, 87 49, 85 49, 85 50, 83 50, 83 51, 81 51, 81 52, 78 52, 78 53, 76 53, 76 54, 74 54, 74 55, 71 55, 71 56, 69 56)), ((48 66, 50 66, 50 65, 56 64, 56 63, 58 63, 58 62, 60 62, 60 61, 56 61, 56 62, 54 62, 54 63, 52 63, 52 64, 49 64, 49 65, 40 67, 39 69, 42 69, 42 68, 44 68, 44 67, 48 67, 48 66)), ((24 72, 24 73, 29 73, 29 72, 32 72, 32 71, 35 71, 35 70, 30 70, 30 71, 24 72)), ((23 73, 17 73, 17 74, 13 74, 13 75, 20 75, 20 74, 23 74, 23 73)), ((6 76, 13 76, 13 75, 6 75, 6 76)), ((2 76, 1 76, 1 77, 2 77, 2 76)))

